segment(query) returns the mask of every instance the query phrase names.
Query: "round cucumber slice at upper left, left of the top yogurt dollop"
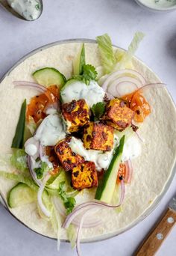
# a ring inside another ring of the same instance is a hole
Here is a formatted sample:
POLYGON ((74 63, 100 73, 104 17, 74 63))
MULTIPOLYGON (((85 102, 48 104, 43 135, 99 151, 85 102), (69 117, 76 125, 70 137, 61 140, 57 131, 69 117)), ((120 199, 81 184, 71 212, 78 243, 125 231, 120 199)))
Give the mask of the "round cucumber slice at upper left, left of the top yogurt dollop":
POLYGON ((40 85, 44 85, 45 87, 57 85, 58 88, 61 88, 66 83, 65 76, 54 67, 44 67, 36 70, 32 76, 40 85))

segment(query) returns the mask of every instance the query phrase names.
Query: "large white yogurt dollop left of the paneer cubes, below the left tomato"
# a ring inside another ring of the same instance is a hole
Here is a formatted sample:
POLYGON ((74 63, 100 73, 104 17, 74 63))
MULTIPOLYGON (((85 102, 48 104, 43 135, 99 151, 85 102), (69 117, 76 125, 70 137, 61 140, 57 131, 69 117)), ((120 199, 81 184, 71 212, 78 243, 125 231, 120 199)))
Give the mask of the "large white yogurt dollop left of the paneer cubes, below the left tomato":
POLYGON ((43 146, 54 146, 57 141, 66 137, 63 129, 63 121, 60 115, 48 115, 40 124, 34 138, 36 138, 43 146))

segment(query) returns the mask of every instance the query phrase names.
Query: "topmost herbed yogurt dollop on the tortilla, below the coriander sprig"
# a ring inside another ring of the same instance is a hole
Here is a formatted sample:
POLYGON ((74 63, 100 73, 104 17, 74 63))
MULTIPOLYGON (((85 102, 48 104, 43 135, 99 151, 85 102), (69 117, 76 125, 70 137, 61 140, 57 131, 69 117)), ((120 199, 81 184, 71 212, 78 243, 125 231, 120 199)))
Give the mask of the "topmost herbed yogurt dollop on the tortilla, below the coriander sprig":
POLYGON ((104 90, 95 81, 89 82, 89 85, 81 81, 75 81, 72 82, 70 86, 66 86, 66 88, 60 92, 63 103, 84 99, 87 105, 92 107, 93 104, 102 102, 104 99, 104 90), (70 86, 72 86, 72 90, 70 86))

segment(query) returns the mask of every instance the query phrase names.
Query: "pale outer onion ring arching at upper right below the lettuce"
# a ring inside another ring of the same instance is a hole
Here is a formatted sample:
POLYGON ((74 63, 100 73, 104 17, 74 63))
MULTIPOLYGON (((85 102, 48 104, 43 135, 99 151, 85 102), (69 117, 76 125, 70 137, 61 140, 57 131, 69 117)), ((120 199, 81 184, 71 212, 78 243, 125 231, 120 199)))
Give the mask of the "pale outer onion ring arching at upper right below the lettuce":
MULTIPOLYGON (((104 89, 104 91, 108 91, 107 88, 108 88, 109 84, 112 82, 112 80, 114 81, 115 79, 118 79, 118 77, 122 76, 122 75, 124 75, 125 78, 128 77, 128 79, 131 80, 132 77, 127 76, 127 74, 129 74, 131 76, 135 76, 141 85, 145 85, 145 78, 138 71, 125 69, 125 70, 118 70, 116 72, 111 73, 110 76, 108 76, 107 79, 105 80, 105 82, 103 83, 102 88, 104 89)), ((129 80, 129 82, 130 82, 130 80, 129 80)))

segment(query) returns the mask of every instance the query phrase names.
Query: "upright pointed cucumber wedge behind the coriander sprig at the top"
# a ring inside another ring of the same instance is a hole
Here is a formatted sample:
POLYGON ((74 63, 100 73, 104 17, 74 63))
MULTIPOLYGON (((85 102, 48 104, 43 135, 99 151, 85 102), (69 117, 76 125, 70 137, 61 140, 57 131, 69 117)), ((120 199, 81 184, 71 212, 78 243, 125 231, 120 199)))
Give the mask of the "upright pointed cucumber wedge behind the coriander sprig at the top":
POLYGON ((78 52, 78 55, 73 61, 73 75, 78 76, 83 73, 83 67, 86 64, 85 61, 85 47, 84 43, 81 44, 81 49, 78 52))

